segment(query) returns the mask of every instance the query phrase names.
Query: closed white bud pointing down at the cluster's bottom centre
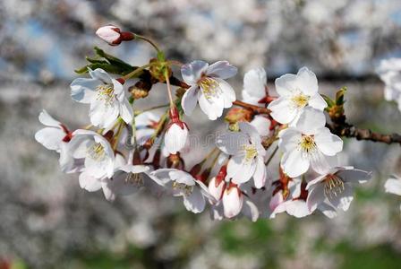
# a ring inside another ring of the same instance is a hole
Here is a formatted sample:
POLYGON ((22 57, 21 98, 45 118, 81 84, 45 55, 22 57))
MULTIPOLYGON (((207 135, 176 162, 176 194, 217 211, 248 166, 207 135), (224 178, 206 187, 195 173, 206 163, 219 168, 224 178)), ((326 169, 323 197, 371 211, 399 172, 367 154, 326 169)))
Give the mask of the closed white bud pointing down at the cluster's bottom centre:
POLYGON ((234 218, 243 209, 243 194, 238 186, 230 183, 223 194, 224 215, 234 218))

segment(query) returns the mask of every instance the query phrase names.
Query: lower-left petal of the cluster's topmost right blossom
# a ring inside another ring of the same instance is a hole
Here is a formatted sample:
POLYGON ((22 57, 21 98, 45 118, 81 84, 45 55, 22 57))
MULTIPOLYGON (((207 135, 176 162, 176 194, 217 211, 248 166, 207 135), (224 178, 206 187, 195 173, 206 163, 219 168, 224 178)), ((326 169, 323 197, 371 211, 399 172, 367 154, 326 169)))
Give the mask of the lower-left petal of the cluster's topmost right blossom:
POLYGON ((292 122, 298 114, 298 109, 294 108, 292 101, 284 97, 270 102, 268 108, 271 110, 270 116, 281 124, 292 122))

